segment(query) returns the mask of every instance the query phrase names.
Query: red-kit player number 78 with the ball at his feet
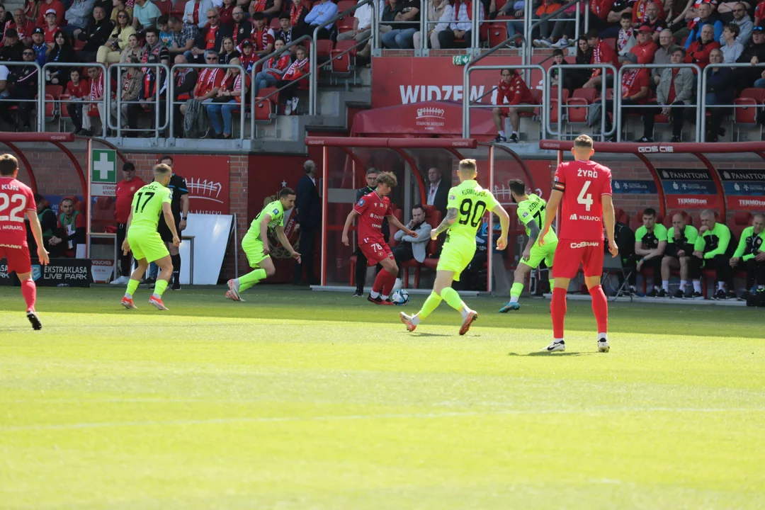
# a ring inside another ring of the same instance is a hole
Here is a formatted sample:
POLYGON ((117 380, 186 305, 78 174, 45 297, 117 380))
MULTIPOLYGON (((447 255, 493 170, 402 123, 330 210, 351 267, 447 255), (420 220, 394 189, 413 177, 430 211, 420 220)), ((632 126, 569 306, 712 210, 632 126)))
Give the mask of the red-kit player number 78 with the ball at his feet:
POLYGON ((366 298, 374 304, 393 304, 389 299, 393 285, 396 284, 396 276, 399 274, 399 266, 390 251, 388 243, 382 237, 382 219, 387 217, 392 226, 406 232, 407 236, 417 237, 417 232, 407 228, 393 216, 388 195, 392 188, 396 187, 396 176, 390 172, 383 172, 377 176, 377 187, 372 193, 367 193, 348 213, 343 227, 343 245, 348 246, 348 229, 353 223, 353 218, 359 216, 359 249, 366 257, 366 265, 382 265, 372 292, 366 298))

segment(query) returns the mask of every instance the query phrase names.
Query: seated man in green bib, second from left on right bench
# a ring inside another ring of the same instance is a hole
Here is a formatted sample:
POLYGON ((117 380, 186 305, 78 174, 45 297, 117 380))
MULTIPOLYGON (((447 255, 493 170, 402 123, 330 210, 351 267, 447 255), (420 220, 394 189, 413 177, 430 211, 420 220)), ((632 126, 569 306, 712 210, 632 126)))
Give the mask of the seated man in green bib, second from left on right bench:
MULTIPOLYGON (((685 291, 688 287, 688 279, 691 276, 691 254, 694 252, 694 245, 698 239, 698 230, 695 226, 688 224, 688 218, 677 213, 672 216, 672 228, 667 231, 667 249, 662 258, 662 292, 659 297, 669 295, 669 277, 672 271, 680 270, 680 288, 675 292, 674 297, 685 297, 685 291)), ((701 281, 695 281, 695 292, 698 296, 702 295, 701 281)), ((692 296, 693 297, 693 296, 692 296)))

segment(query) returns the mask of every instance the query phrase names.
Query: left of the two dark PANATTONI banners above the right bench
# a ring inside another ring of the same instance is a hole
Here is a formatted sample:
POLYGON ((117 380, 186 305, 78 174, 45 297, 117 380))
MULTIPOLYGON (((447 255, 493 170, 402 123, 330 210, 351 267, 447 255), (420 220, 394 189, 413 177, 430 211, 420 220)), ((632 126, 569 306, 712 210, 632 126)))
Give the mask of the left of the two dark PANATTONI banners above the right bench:
POLYGON ((706 168, 657 168, 670 209, 715 209, 720 199, 715 181, 706 168))

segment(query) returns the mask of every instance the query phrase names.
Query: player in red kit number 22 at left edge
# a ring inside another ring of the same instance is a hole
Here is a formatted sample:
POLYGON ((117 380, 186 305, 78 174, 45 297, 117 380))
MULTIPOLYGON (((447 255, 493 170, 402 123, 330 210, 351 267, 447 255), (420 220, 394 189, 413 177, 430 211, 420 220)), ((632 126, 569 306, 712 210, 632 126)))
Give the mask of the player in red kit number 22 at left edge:
POLYGON ((11 154, 0 156, 0 259, 8 261, 8 272, 16 272, 21 281, 21 294, 27 302, 27 318, 35 330, 42 324, 34 311, 37 287, 32 279, 32 262, 27 245, 24 213, 29 218, 32 235, 37 242, 37 258, 47 265, 50 261, 43 247, 43 231, 37 218, 37 205, 32 190, 18 180, 18 161, 11 154))

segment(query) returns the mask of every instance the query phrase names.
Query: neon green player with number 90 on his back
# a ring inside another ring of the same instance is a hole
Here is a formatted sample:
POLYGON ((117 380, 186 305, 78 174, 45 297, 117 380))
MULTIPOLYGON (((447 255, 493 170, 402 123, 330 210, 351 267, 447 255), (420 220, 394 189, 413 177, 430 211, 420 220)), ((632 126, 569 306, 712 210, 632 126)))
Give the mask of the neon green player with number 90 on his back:
POLYGON ((418 313, 412 316, 401 313, 401 320, 409 331, 414 331, 420 321, 438 308, 441 300, 446 300, 450 307, 462 314, 461 335, 467 333, 470 324, 478 318, 478 313, 470 310, 460 299, 460 294, 451 288, 451 282, 459 281, 461 272, 473 260, 476 251, 476 232, 480 227, 483 213, 490 210, 500 216, 502 234, 496 240, 496 247, 500 250, 507 246, 510 217, 491 192, 478 185, 475 180, 477 174, 474 159, 460 161, 460 167, 457 169, 460 185, 449 190, 446 217, 441 225, 431 231, 431 239, 436 239, 438 234, 448 230, 444 249, 436 266, 433 291, 418 313))

